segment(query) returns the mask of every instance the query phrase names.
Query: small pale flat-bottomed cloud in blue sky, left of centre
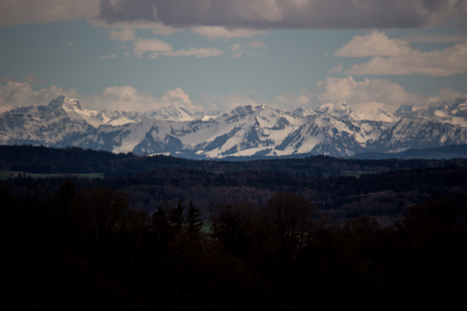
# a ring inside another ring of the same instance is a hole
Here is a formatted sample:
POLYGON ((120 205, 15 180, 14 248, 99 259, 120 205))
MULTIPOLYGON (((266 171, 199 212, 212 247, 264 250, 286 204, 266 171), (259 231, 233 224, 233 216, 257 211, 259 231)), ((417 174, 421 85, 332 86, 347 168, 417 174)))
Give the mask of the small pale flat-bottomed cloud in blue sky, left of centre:
POLYGON ((133 48, 134 54, 138 57, 156 58, 159 55, 166 56, 196 56, 196 57, 207 57, 207 56, 219 56, 224 52, 217 48, 189 48, 188 50, 174 51, 173 47, 162 40, 157 38, 154 39, 140 39, 138 38, 134 42, 133 48), (147 54, 149 52, 149 54, 147 54))

